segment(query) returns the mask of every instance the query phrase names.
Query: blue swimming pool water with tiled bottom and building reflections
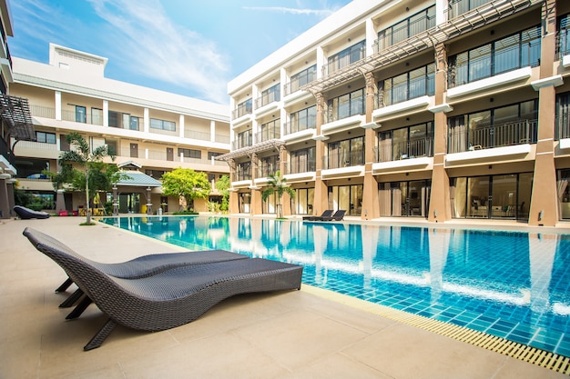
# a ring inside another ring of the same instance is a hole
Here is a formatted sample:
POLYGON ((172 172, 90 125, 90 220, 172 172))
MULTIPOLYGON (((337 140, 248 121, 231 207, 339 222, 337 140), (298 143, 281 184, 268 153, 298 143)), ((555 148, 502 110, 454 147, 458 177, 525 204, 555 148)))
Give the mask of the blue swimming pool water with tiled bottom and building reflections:
POLYGON ((570 356, 570 235, 208 216, 102 221, 188 250, 302 264, 305 284, 570 356))

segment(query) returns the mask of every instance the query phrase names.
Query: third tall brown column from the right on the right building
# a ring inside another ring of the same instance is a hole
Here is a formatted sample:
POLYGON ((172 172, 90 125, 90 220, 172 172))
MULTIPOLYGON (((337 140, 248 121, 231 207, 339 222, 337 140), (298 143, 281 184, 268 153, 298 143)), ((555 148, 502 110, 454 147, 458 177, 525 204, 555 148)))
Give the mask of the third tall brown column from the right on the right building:
MULTIPOLYGON (((376 79, 372 73, 366 77, 366 125, 372 125, 372 112, 374 110, 374 96, 378 93, 376 79)), ((372 165, 375 161, 374 146, 376 146, 376 131, 366 128, 364 132, 364 188, 362 190, 361 219, 370 220, 380 217, 380 200, 378 198, 378 182, 372 174, 372 165)))

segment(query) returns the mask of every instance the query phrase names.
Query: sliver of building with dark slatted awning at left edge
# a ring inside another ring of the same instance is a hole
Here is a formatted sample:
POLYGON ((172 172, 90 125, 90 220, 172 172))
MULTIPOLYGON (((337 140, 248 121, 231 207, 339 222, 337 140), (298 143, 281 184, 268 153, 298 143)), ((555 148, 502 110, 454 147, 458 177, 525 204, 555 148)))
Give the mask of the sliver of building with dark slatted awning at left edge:
POLYGON ((0 0, 0 35, 2 36, 0 38, 0 219, 2 219, 10 218, 15 204, 13 176, 17 170, 11 143, 35 138, 27 100, 8 95, 13 75, 7 36, 13 36, 13 31, 10 5, 7 0, 0 0))

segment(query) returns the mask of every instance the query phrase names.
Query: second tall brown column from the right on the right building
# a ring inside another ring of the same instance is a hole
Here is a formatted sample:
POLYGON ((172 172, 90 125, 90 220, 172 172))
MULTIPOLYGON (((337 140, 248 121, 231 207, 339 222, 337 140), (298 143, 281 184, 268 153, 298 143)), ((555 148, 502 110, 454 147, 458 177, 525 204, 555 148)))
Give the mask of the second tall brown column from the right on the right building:
POLYGON ((433 117, 433 171, 428 221, 448 221, 452 218, 449 175, 445 170, 447 154, 447 115, 452 108, 445 104, 447 90, 447 50, 445 45, 435 46, 435 105, 430 109, 433 117))

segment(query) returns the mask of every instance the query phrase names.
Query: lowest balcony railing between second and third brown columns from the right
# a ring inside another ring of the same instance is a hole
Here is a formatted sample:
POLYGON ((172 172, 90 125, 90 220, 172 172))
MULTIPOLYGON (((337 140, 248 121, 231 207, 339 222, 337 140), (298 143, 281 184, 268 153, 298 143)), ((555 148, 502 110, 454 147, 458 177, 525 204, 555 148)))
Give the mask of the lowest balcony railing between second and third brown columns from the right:
POLYGON ((374 156, 375 162, 433 156, 433 138, 412 139, 399 143, 385 141, 374 148, 374 156))

